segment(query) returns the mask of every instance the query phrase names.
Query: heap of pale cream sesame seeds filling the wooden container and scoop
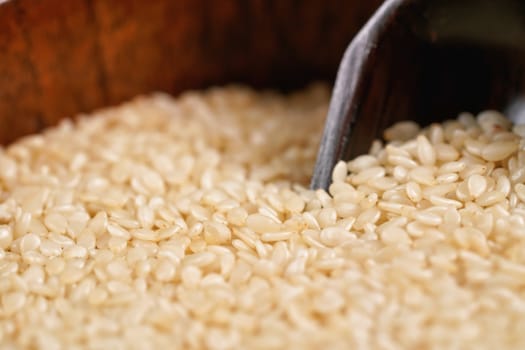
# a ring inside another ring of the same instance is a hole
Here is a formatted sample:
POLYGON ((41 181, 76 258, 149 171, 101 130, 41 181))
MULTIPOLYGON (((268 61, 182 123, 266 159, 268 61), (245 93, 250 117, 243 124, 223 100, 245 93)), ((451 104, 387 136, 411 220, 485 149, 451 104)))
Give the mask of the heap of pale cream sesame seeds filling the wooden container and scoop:
POLYGON ((1 347, 525 348, 525 126, 399 123, 311 191, 328 99, 156 94, 1 149, 1 347))

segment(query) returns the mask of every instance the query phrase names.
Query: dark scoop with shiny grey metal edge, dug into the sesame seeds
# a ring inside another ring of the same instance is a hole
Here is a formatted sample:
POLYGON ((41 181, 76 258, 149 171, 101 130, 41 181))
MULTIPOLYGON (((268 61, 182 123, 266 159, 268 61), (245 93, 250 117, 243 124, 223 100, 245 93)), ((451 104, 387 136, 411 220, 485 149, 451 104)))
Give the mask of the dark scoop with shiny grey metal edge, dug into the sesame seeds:
POLYGON ((483 109, 515 119, 524 91, 525 1, 387 0, 339 66, 311 186, 328 188, 337 161, 396 121, 483 109))

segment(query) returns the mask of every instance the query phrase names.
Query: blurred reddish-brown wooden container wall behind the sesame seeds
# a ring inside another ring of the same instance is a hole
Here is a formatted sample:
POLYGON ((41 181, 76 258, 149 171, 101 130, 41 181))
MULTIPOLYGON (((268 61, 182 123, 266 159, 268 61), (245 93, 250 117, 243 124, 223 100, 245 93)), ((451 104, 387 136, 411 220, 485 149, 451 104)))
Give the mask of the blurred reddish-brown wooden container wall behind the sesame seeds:
POLYGON ((152 90, 332 79, 380 0, 10 0, 0 143, 152 90))

